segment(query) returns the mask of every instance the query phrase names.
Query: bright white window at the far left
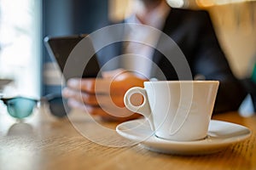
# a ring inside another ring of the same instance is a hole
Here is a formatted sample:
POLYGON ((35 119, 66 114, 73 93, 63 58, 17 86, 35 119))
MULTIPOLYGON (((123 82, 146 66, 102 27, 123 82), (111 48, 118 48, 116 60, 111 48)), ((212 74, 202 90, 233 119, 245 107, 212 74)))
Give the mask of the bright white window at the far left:
POLYGON ((5 95, 40 96, 41 1, 0 0, 0 78, 5 95))

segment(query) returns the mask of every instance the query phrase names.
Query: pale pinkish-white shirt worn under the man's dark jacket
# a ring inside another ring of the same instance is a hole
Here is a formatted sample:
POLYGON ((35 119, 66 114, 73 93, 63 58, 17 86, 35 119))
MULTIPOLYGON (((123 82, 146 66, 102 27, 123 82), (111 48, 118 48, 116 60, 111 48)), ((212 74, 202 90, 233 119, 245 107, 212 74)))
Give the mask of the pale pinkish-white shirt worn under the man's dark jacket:
POLYGON ((135 14, 132 14, 125 20, 125 23, 138 24, 137 26, 131 27, 131 32, 128 35, 129 39, 136 39, 139 42, 126 42, 124 44, 125 57, 122 60, 122 68, 130 71, 136 71, 137 75, 141 77, 150 78, 150 72, 152 68, 152 57, 154 54, 154 48, 146 45, 154 44, 156 46, 160 34, 155 32, 152 33, 150 29, 144 29, 140 27, 140 24, 146 26, 152 26, 156 29, 161 30, 165 24, 166 17, 169 14, 171 8, 165 2, 160 3, 157 8, 150 11, 146 18, 143 18, 143 23, 138 20, 137 14, 140 13, 143 8, 137 7, 135 14))

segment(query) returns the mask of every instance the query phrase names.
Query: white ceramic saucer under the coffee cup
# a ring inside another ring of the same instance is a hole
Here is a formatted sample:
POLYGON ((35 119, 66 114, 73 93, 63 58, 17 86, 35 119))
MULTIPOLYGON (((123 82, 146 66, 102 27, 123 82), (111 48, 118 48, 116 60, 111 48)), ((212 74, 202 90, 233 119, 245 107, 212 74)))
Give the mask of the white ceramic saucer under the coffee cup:
POLYGON ((214 121, 209 125, 206 139, 179 142, 160 139, 154 136, 149 124, 144 119, 123 122, 116 127, 117 133, 142 144, 148 150, 177 155, 202 155, 224 150, 231 144, 236 144, 250 137, 251 131, 241 125, 214 121))

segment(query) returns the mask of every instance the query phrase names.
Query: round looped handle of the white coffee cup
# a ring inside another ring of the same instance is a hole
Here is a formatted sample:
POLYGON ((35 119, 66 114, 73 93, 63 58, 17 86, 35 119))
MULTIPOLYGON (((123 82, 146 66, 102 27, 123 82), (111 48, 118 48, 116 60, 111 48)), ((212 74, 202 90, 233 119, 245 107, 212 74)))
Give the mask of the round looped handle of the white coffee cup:
POLYGON ((153 130, 153 131, 155 130, 153 116, 151 114, 151 109, 150 109, 150 106, 148 103, 148 95, 144 88, 139 88, 139 87, 130 88, 125 93, 124 102, 125 102, 125 106, 127 109, 143 115, 148 120, 151 130, 153 130), (144 101, 143 101, 142 105, 132 105, 131 96, 133 94, 142 94, 143 95, 144 101))

